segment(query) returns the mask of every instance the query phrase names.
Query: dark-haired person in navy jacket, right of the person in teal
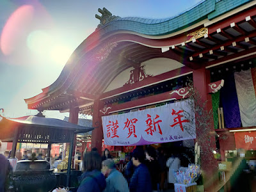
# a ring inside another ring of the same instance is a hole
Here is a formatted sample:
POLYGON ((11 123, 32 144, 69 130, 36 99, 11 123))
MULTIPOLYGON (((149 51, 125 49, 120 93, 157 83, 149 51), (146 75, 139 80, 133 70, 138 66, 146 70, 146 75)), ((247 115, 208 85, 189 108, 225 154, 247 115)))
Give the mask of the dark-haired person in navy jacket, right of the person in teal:
POLYGON ((136 170, 132 175, 129 185, 131 192, 151 192, 152 184, 150 179, 150 173, 145 164, 145 153, 141 148, 135 148, 132 152, 132 163, 136 166, 136 170))

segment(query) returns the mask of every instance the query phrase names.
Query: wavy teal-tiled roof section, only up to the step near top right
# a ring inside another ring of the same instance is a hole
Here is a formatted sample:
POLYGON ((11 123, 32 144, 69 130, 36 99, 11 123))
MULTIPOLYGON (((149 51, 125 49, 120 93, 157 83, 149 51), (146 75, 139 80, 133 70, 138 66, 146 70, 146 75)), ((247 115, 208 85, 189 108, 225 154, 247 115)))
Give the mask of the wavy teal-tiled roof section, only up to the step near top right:
MULTIPOLYGON (((104 33, 115 30, 127 30, 143 35, 166 35, 182 28, 186 28, 193 22, 205 19, 207 14, 215 10, 215 0, 206 0, 194 8, 181 13, 176 17, 166 19, 144 19, 140 17, 117 17, 104 26, 104 33)), ((103 27, 103 26, 102 26, 103 27)))

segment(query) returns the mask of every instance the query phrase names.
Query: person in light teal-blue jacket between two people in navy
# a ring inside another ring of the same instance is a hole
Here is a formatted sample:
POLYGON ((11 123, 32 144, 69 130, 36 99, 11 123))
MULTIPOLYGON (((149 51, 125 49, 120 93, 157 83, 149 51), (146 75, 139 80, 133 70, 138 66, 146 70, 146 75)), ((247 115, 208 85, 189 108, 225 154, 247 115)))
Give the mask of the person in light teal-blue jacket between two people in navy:
POLYGON ((104 192, 129 192, 127 181, 122 173, 116 170, 113 159, 106 159, 102 162, 102 173, 108 175, 104 192))

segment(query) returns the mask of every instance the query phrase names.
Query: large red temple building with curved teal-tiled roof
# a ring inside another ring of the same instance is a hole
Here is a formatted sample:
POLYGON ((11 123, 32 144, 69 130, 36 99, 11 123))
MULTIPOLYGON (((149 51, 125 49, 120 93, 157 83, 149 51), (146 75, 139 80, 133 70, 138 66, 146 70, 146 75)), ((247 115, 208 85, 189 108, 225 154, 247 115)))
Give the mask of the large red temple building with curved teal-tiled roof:
MULTIPOLYGON (((108 129, 102 126, 104 119, 184 101, 192 82, 201 101, 195 108, 212 112, 207 113, 213 122, 205 145, 202 126, 195 122, 195 141, 202 152, 218 148, 220 161, 225 161, 236 148, 256 150, 256 1, 205 0, 166 19, 98 11, 100 24, 73 52, 57 80, 25 99, 29 109, 69 112, 74 124, 79 113, 92 115, 92 147, 101 151, 107 139, 103 129, 108 129)), ((209 158, 201 155, 201 164, 213 175, 218 161, 209 163, 209 158)))

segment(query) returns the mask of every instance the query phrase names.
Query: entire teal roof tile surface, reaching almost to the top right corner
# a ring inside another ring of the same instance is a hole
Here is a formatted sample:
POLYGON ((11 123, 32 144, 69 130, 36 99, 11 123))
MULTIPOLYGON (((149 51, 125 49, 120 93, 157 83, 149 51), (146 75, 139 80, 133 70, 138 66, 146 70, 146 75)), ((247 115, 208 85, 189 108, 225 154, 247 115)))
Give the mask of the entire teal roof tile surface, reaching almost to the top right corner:
POLYGON ((177 17, 167 19, 143 19, 138 17, 125 17, 112 20, 100 28, 100 33, 127 30, 141 33, 144 35, 166 35, 179 31, 208 18, 214 19, 242 4, 252 0, 205 0, 202 3, 191 8, 187 12, 181 13, 177 17))

